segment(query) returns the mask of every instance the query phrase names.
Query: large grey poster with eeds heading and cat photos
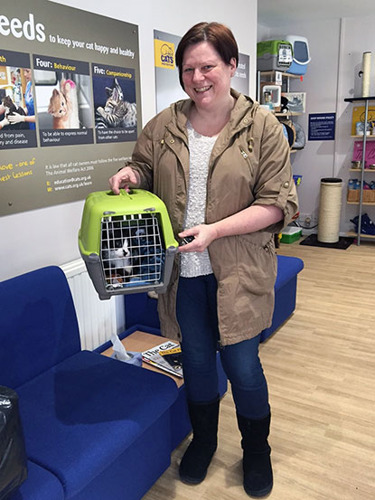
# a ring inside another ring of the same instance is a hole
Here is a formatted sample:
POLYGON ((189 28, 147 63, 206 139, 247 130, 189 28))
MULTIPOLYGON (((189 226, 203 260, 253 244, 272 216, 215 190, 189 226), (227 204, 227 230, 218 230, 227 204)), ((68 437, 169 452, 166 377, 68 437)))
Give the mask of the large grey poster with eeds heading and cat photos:
POLYGON ((2 0, 0 47, 0 215, 107 189, 142 125, 138 27, 2 0))

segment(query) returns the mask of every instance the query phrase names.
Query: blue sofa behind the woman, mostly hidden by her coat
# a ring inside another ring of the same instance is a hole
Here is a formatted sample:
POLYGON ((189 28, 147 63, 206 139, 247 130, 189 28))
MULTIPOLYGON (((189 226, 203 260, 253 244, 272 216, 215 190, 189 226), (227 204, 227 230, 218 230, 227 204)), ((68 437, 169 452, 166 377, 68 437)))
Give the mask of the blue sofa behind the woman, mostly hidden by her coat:
MULTIPOLYGON (((272 324, 261 333, 261 342, 268 339, 291 316, 296 307, 297 276, 304 267, 298 257, 277 255, 275 306, 272 324)), ((124 295, 125 317, 128 328, 159 329, 157 301, 147 293, 124 295)))

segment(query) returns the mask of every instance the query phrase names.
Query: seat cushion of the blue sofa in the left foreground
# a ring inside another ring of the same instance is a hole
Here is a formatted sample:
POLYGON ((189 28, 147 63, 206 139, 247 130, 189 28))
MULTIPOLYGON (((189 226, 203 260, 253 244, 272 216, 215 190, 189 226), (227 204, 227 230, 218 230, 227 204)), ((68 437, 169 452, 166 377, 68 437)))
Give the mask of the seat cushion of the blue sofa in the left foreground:
MULTIPOLYGON (((88 351, 65 359, 18 393, 28 456, 56 474, 67 498, 108 467, 178 396, 170 377, 88 351)), ((165 441, 170 447, 170 435, 165 441)))

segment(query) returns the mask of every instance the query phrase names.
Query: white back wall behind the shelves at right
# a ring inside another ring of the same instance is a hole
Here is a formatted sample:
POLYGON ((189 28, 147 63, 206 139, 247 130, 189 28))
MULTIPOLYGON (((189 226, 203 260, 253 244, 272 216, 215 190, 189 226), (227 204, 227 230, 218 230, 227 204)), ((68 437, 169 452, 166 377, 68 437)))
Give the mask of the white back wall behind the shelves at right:
MULTIPOLYGON (((277 31, 275 28, 258 27, 258 40, 277 39, 281 34, 293 34, 305 36, 309 41, 311 62, 304 81, 292 84, 292 89, 307 92, 307 113, 299 117, 298 122, 307 136, 309 113, 335 112, 336 139, 307 142, 303 150, 292 155, 292 165, 294 173, 303 176, 298 187, 300 213, 303 214, 318 215, 322 177, 334 176, 343 179, 341 234, 352 229, 350 218, 358 210, 356 206, 346 204, 353 140, 350 138, 352 106, 345 103, 344 98, 360 95, 358 71, 361 69, 362 53, 368 50, 373 52, 374 74, 374 22, 375 18, 370 16, 298 23, 298 27, 285 25, 277 31)), ((371 95, 375 95, 374 76, 371 82, 371 95)), ((372 210, 373 214, 369 211, 369 215, 375 220, 375 209, 372 210)))

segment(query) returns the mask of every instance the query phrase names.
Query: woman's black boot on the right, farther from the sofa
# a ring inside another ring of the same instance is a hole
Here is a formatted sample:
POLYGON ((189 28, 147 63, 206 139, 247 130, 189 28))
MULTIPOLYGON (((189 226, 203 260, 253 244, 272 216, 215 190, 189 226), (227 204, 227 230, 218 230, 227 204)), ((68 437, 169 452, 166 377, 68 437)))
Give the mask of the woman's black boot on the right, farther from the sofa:
POLYGON ((251 497, 268 495, 273 486, 271 448, 268 444, 271 415, 252 420, 237 413, 243 449, 243 486, 251 497))

